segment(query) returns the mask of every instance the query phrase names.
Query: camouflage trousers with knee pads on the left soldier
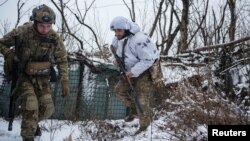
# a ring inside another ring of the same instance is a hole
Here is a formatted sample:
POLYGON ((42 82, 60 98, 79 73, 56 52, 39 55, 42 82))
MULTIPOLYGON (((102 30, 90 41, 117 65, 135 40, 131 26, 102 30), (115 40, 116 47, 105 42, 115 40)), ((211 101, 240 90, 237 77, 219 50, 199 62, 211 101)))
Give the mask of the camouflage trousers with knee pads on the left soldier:
POLYGON ((16 90, 21 96, 21 136, 33 137, 38 122, 54 113, 50 83, 47 77, 22 77, 16 90))

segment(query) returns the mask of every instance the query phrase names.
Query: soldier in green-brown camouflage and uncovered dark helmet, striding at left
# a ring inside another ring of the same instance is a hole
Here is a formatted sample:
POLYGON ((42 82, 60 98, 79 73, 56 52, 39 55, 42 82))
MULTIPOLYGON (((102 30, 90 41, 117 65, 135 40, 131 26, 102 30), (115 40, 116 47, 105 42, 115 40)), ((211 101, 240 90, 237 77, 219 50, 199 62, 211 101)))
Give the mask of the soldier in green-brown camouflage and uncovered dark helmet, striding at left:
MULTIPOLYGON (((39 121, 54 113, 51 96, 51 63, 57 64, 62 86, 62 97, 69 94, 67 53, 63 41, 52 29, 55 13, 46 5, 33 9, 31 21, 0 39, 0 51, 5 61, 13 56, 18 61, 18 80, 14 93, 21 97, 21 136, 34 141, 39 135, 39 121), (14 53, 10 47, 14 46, 14 53)), ((7 64, 8 69, 11 65, 7 64)), ((11 70, 9 70, 11 71, 11 70)))

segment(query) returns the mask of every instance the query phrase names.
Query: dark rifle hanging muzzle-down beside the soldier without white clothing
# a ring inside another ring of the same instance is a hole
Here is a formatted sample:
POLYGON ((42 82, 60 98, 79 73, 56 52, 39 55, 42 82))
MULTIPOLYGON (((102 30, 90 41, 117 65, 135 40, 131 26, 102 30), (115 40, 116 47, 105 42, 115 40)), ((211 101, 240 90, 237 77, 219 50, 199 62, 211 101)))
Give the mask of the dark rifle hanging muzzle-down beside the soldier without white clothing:
POLYGON ((11 88, 10 88, 10 103, 9 103, 9 126, 8 126, 8 131, 12 131, 12 123, 15 118, 15 109, 16 109, 16 100, 17 100, 17 95, 16 91, 14 89, 16 88, 16 83, 18 79, 18 61, 15 59, 13 60, 13 74, 12 74, 12 80, 11 80, 11 88))

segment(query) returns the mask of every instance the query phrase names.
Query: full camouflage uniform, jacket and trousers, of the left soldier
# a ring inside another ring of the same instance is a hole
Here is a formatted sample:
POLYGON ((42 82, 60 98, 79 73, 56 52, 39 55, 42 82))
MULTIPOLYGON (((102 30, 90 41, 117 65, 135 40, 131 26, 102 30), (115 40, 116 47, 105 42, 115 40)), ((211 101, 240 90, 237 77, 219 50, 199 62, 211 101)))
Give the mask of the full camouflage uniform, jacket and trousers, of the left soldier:
POLYGON ((8 48, 18 43, 15 54, 19 59, 19 78, 14 92, 21 96, 21 135, 33 137, 38 122, 49 118, 54 112, 51 98, 49 75, 28 75, 25 67, 28 62, 52 61, 57 64, 61 80, 68 81, 67 53, 63 41, 51 30, 40 35, 33 23, 20 26, 0 39, 0 52, 5 55, 8 48))

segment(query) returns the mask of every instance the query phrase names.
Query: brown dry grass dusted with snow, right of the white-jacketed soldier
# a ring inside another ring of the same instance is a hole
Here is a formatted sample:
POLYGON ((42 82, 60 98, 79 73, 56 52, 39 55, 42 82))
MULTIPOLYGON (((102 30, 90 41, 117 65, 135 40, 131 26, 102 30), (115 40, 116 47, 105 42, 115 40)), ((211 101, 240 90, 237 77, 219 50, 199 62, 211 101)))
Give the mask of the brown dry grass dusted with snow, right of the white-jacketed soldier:
MULTIPOLYGON (((187 140, 199 126, 249 124, 244 110, 221 96, 221 91, 209 85, 201 87, 201 78, 194 76, 168 86, 168 97, 155 107, 155 119, 166 115, 165 129, 175 137, 187 140)), ((204 133, 200 139, 206 140, 204 133)))

